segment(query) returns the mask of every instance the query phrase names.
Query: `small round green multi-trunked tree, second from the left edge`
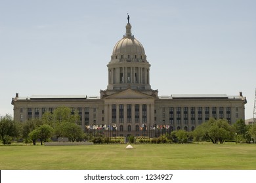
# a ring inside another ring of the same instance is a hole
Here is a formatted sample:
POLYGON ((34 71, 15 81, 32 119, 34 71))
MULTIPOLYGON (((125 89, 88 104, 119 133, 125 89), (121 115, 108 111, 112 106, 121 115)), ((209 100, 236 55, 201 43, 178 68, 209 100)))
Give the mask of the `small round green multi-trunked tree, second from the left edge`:
POLYGON ((35 145, 35 140, 39 139, 41 142, 41 145, 43 145, 43 142, 49 141, 49 139, 53 135, 53 127, 50 125, 44 124, 40 125, 39 127, 35 128, 32 132, 30 132, 29 136, 30 139, 32 139, 33 144, 35 145))

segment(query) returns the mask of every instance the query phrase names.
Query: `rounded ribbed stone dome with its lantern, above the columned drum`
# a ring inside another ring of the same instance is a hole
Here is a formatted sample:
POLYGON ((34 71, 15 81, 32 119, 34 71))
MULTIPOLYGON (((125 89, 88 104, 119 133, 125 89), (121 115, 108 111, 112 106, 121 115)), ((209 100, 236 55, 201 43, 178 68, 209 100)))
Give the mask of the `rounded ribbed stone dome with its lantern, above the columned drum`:
POLYGON ((123 35, 123 39, 119 40, 114 46, 112 56, 123 55, 125 58, 127 58, 128 55, 131 57, 136 55, 138 58, 144 58, 144 48, 142 44, 131 34, 131 24, 128 23, 125 27, 126 34, 123 35))

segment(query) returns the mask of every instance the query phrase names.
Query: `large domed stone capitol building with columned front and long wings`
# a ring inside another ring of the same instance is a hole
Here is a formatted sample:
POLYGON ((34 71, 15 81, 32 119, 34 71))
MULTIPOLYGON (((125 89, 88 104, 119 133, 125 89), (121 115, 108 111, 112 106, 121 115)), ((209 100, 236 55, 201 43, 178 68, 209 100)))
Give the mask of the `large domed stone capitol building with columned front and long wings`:
MULTIPOLYGON (((26 122, 41 118, 45 112, 57 107, 77 110, 84 131, 89 127, 111 127, 108 136, 150 137, 155 129, 193 131, 198 125, 213 117, 228 120, 245 118, 246 98, 238 95, 197 94, 159 96, 150 86, 150 63, 142 44, 132 34, 129 22, 125 35, 114 46, 107 64, 108 85, 100 96, 87 95, 32 95, 12 98, 14 120, 26 122)), ((121 34, 121 33, 120 33, 121 34)), ((171 91, 170 91, 171 92, 171 91)))

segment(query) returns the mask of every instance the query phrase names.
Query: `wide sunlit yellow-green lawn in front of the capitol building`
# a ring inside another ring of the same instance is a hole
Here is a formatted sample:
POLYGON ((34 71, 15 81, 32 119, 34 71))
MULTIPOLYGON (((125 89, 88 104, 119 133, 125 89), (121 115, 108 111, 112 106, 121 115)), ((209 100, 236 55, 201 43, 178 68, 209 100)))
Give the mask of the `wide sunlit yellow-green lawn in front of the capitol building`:
POLYGON ((255 170, 255 144, 0 146, 0 169, 255 170))

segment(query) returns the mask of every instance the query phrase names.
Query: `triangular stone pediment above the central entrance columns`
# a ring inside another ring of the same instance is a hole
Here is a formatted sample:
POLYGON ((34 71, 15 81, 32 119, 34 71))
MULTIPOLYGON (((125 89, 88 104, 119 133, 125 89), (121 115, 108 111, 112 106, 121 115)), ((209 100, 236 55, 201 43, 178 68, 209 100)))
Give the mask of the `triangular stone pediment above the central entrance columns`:
POLYGON ((109 95, 106 99, 154 99, 154 97, 136 90, 127 89, 109 95))

